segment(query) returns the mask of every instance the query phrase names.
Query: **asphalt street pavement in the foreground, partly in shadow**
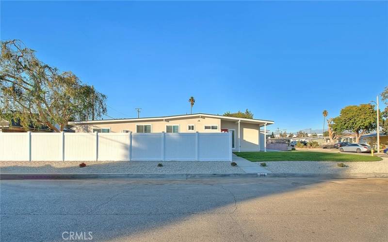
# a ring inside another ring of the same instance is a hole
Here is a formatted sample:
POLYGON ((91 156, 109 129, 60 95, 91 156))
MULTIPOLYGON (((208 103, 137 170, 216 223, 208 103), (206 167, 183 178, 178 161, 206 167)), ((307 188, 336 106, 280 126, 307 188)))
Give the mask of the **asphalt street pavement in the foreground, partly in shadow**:
POLYGON ((388 179, 0 181, 1 241, 81 239, 388 241, 388 179))

